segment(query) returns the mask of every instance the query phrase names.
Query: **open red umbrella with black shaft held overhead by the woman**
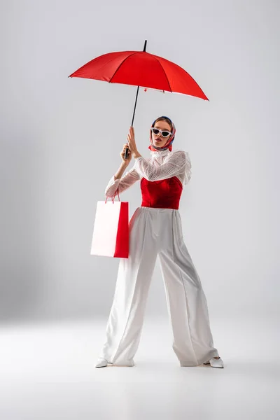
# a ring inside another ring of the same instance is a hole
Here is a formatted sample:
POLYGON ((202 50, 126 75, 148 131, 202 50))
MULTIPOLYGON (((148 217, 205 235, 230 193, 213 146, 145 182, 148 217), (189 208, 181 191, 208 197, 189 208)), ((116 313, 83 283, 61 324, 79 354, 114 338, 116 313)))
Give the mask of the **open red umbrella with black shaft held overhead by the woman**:
MULTIPOLYGON (((109 83, 138 86, 132 127, 139 86, 209 100, 186 70, 168 59, 146 52, 146 45, 147 41, 145 41, 143 51, 118 51, 99 55, 74 71, 69 77, 91 78, 109 83)), ((127 151, 125 158, 127 158, 127 151)))

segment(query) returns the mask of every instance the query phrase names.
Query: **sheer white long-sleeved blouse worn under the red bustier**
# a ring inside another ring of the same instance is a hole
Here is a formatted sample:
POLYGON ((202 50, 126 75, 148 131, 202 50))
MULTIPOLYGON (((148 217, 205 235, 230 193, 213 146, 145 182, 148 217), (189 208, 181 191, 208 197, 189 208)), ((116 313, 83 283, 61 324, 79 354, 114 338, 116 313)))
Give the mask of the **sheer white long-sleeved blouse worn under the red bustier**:
POLYGON ((185 151, 151 151, 151 158, 136 158, 134 167, 120 179, 113 175, 105 188, 106 197, 114 197, 116 190, 121 194, 134 183, 146 178, 148 181, 177 176, 183 185, 191 178, 191 163, 188 152, 185 151))

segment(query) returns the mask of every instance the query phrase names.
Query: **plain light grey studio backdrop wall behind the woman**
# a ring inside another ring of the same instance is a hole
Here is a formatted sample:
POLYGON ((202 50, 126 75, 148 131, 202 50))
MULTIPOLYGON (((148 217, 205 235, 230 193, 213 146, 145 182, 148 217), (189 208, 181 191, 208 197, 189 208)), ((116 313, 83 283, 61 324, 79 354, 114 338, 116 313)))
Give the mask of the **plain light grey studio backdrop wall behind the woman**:
MULTIPOLYGON (((18 0, 0 15, 1 321, 109 315, 119 260, 90 245, 137 87, 68 76, 145 39, 210 99, 141 89, 134 119, 144 157, 161 115, 190 154, 180 213, 210 315, 276 314, 279 2, 18 0)), ((120 198, 132 216, 139 183, 120 198)), ((166 313, 157 265, 147 314, 166 313)))

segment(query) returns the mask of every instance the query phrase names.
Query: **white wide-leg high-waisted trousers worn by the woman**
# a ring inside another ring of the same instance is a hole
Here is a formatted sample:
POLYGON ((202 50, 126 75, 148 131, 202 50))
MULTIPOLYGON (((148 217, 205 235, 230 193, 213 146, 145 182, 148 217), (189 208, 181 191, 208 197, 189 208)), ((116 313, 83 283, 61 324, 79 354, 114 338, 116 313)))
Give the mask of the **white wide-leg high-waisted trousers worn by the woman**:
POLYGON ((207 299, 183 241, 179 210, 138 207, 130 220, 130 256, 120 258, 106 342, 99 357, 117 365, 134 361, 157 255, 172 324, 172 347, 181 366, 201 365, 219 356, 207 299))

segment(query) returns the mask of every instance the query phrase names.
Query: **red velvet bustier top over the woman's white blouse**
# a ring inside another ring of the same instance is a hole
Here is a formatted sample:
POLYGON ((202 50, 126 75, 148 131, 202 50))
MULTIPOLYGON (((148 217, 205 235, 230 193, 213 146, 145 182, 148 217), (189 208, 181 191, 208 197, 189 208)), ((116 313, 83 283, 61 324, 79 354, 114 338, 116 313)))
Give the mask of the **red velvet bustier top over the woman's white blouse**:
POLYGON ((177 176, 148 181, 141 179, 142 203, 141 207, 156 207, 158 209, 179 209, 179 202, 183 186, 177 176))

